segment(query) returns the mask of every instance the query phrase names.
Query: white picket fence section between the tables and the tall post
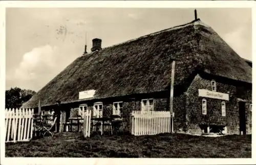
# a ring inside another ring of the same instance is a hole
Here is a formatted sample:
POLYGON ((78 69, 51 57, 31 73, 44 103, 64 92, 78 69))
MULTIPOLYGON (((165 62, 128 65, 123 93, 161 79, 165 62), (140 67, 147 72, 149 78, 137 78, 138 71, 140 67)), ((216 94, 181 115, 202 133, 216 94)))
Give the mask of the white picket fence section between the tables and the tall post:
POLYGON ((138 136, 170 133, 170 123, 169 111, 132 111, 130 117, 131 134, 138 136))

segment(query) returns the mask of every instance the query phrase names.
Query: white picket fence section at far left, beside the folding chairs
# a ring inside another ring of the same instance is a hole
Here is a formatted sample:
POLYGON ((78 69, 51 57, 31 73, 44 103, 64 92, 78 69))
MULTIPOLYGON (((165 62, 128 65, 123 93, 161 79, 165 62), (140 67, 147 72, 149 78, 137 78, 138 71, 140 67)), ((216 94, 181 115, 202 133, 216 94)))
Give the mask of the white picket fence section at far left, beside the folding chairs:
POLYGON ((34 109, 5 110, 5 142, 26 142, 32 138, 34 109))

